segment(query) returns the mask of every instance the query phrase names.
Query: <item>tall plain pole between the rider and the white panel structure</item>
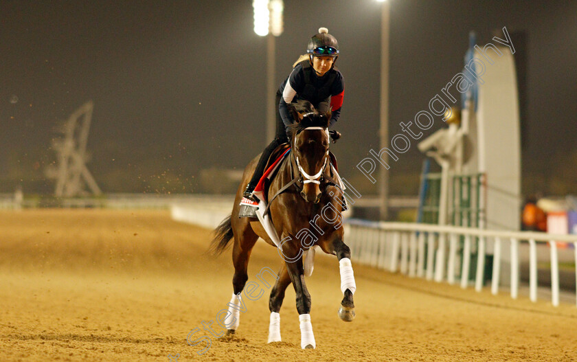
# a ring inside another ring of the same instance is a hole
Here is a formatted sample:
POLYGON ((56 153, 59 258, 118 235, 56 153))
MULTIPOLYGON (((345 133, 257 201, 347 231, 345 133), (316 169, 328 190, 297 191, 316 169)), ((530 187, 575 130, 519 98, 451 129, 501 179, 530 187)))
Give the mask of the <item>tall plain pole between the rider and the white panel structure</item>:
MULTIPOLYGON (((381 150, 389 146, 389 13, 390 3, 387 0, 377 0, 381 5, 381 150)), ((389 164, 389 155, 384 152, 384 161, 389 164)), ((389 170, 380 168, 378 194, 381 199, 381 220, 389 217, 389 170)))

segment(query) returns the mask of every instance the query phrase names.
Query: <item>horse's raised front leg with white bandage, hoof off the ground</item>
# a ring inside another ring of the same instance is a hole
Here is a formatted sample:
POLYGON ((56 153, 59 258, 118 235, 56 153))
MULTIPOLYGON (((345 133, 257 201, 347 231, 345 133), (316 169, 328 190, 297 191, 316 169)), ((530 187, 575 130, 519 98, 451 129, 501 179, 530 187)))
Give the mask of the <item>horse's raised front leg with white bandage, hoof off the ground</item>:
POLYGON ((340 238, 333 243, 335 253, 339 259, 341 269, 341 291, 343 292, 343 301, 339 308, 339 317, 343 321, 352 321, 354 319, 354 302, 352 295, 357 290, 357 284, 354 282, 354 273, 350 262, 350 249, 340 238))

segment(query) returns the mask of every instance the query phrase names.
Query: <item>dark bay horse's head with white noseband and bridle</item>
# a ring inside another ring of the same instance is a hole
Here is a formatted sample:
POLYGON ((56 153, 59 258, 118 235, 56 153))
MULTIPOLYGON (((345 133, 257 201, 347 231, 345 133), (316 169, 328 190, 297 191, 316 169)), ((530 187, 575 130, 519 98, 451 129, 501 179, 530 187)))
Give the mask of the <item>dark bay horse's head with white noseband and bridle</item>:
POLYGON ((288 104, 295 118, 290 128, 293 157, 303 186, 300 192, 306 202, 318 203, 321 199, 320 183, 328 157, 328 123, 330 111, 319 113, 310 102, 288 104))

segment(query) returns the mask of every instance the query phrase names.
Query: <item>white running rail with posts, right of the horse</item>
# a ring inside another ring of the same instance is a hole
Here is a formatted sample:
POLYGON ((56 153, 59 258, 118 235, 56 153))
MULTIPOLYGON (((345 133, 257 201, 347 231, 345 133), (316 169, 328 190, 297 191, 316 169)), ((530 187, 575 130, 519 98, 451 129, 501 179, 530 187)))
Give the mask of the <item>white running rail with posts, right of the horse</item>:
MULTIPOLYGON (((550 245, 552 304, 559 305, 558 242, 571 242, 577 264, 577 235, 555 235, 530 231, 496 231, 471 227, 440 226, 421 223, 385 223, 348 219, 345 242, 351 249, 352 260, 380 269, 455 284, 457 249, 462 240, 460 285, 468 285, 473 248, 477 248, 475 290, 483 286, 486 243, 493 242, 493 272, 491 293, 499 290, 501 249, 510 247, 510 293, 517 299, 519 292, 519 244, 529 245, 529 290, 532 302, 537 300, 537 244, 550 245), (448 242, 448 245, 447 245, 448 242), (446 274, 445 274, 446 272, 446 274)), ((576 268, 577 281, 577 268, 576 268)), ((577 290, 577 287, 576 287, 577 290)))

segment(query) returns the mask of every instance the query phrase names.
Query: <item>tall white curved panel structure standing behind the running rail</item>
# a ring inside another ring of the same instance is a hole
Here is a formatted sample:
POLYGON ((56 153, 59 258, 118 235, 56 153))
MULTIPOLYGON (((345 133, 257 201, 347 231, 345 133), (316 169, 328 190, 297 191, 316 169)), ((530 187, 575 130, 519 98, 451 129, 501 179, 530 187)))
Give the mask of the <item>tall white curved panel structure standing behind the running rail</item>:
MULTIPOLYGON (((486 174, 486 227, 519 230, 521 207, 521 139, 519 98, 514 58, 508 47, 490 51, 493 64, 485 62, 480 75, 475 123, 469 135, 476 139, 477 157, 465 165, 467 172, 486 174), (476 132, 477 135, 471 132, 476 132), (476 164, 475 164, 476 163, 476 164)), ((479 52, 475 56, 484 60, 479 52)), ((477 67, 477 73, 481 69, 477 67)))

